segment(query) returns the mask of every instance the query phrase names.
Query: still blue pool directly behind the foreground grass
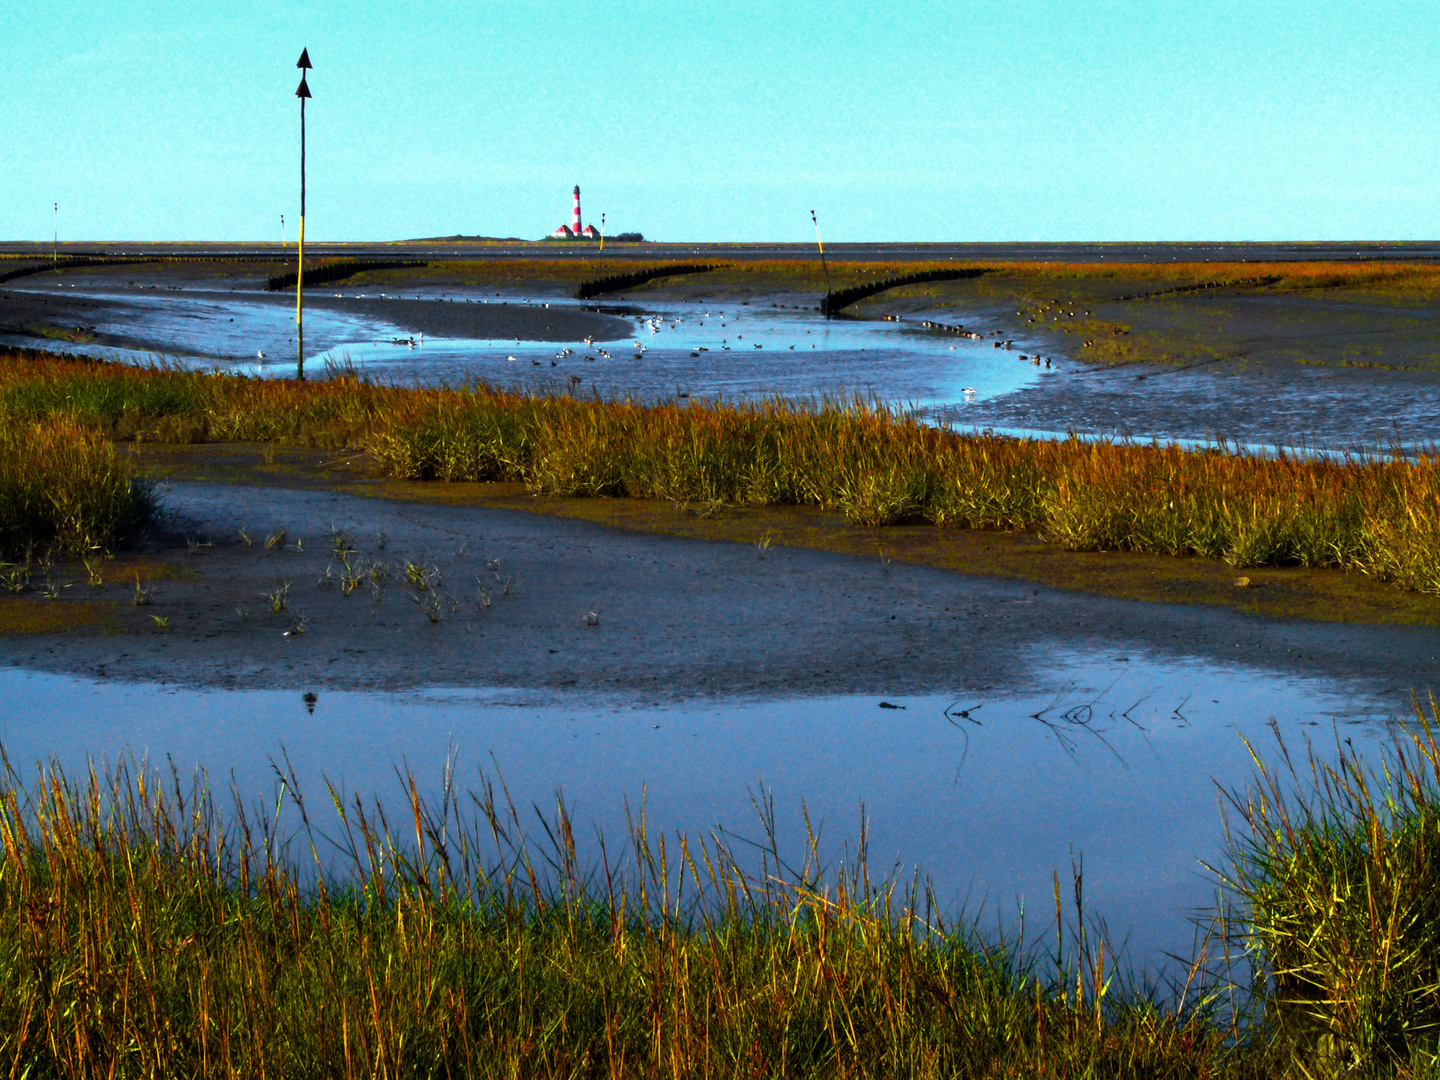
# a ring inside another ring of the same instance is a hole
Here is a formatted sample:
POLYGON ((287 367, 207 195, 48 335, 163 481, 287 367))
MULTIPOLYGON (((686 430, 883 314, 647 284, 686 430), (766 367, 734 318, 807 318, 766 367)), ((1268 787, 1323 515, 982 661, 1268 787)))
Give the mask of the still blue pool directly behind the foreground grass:
MULTIPOLYGON (((1189 919, 1212 900, 1201 860, 1221 854, 1221 789, 1250 775, 1241 736, 1270 749, 1273 720, 1292 744, 1375 746, 1394 711, 1329 680, 1139 655, 1058 655, 1043 683, 1027 694, 664 706, 485 688, 307 701, 298 685, 194 690, 3 668, 0 737, 22 765, 168 759, 217 782, 233 773, 255 796, 272 791, 271 762, 287 753, 317 799, 327 776, 396 806, 396 769, 433 793, 454 756, 461 788, 498 773, 521 808, 553 808, 562 791, 582 844, 592 829, 622 837, 626 799, 645 804, 652 829, 760 840, 752 798, 763 791, 782 854, 804 854, 805 808, 837 855, 864 806, 876 876, 919 868, 942 900, 991 924, 1044 912, 1051 873, 1064 881, 1083 860, 1092 910, 1132 959, 1156 963, 1189 948, 1189 919)), ((582 854, 595 852, 590 840, 582 854)))

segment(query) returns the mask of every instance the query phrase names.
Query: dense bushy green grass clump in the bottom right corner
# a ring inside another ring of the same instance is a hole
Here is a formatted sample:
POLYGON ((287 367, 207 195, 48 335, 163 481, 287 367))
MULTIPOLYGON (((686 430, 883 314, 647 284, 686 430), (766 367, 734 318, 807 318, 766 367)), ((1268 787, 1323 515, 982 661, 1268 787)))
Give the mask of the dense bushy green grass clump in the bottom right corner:
POLYGON ((1345 739, 1297 763, 1256 753, 1231 795, 1225 874, 1274 1032, 1315 1067, 1434 1071, 1440 1050, 1440 749, 1434 698, 1377 765, 1345 739))

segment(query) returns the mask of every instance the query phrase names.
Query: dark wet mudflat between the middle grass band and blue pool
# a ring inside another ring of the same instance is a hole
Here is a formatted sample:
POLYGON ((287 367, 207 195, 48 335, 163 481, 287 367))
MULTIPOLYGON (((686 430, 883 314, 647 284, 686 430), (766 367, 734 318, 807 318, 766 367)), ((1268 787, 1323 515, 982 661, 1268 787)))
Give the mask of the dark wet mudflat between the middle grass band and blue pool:
POLYGON ((166 503, 177 534, 213 546, 192 553, 171 540, 144 556, 166 567, 160 575, 127 566, 107 572, 102 589, 76 583, 62 600, 0 599, 114 605, 102 628, 0 635, 0 662, 210 687, 553 687, 670 700, 1012 693, 1035 684, 1050 654, 1084 648, 1323 677, 1395 713, 1413 690, 1440 683, 1434 626, 1266 619, 334 492, 177 482, 166 503), (369 576, 344 593, 343 562, 325 540, 336 528, 354 539, 351 567, 383 563, 379 599, 369 576), (406 562, 439 570, 439 621, 406 585, 406 562), (130 603, 137 573, 147 606, 130 603), (275 590, 285 592, 278 613, 266 599, 275 590), (294 634, 300 619, 304 632, 294 634))

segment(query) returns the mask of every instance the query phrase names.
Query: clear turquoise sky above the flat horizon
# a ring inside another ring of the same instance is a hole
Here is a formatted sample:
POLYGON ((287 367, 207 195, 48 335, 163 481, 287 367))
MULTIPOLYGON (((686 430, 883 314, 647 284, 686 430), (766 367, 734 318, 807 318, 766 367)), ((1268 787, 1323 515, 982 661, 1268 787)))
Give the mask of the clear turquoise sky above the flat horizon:
POLYGON ((1434 239, 1431 3, 10 3, 0 239, 1434 239))

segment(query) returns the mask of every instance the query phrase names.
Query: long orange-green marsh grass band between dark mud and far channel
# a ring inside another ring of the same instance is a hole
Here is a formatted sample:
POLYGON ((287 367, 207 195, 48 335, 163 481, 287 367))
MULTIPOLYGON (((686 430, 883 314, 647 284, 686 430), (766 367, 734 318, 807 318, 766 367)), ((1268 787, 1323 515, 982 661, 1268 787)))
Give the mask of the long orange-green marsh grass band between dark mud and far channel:
MULTIPOLYGON (((1440 592, 1433 456, 1313 461, 1027 442, 937 431, 864 402, 642 408, 482 386, 413 390, 353 376, 292 383, 19 353, 0 361, 0 412, 68 425, 71 442, 99 431, 160 442, 360 446, 400 480, 821 505, 870 526, 1037 530, 1070 550, 1342 567, 1440 592)), ((56 462, 58 477, 79 468, 79 458, 56 462)))

